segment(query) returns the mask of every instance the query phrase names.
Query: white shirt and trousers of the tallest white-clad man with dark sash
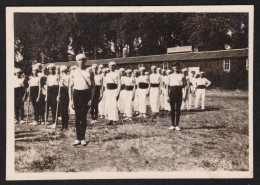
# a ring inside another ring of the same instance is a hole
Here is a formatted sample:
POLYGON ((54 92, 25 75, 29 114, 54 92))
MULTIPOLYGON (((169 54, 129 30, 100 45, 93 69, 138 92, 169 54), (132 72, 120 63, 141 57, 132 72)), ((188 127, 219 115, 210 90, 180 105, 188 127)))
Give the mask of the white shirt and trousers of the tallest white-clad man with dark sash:
POLYGON ((118 95, 118 88, 116 89, 108 89, 108 84, 118 84, 119 74, 117 72, 109 72, 105 77, 106 81, 106 100, 105 100, 105 112, 107 114, 107 118, 110 121, 118 121, 118 102, 116 97, 118 95))

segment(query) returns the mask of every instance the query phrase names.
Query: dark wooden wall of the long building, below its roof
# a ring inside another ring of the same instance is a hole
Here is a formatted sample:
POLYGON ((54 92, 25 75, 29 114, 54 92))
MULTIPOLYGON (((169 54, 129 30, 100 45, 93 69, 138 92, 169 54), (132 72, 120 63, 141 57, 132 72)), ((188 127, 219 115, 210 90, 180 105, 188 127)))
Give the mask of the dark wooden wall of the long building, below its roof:
MULTIPOLYGON (((225 72, 223 65, 224 59, 215 60, 196 60, 196 61, 178 61, 181 63, 181 68, 200 67, 200 71, 205 72, 205 77, 212 82, 211 88, 222 89, 248 89, 248 71, 246 70, 247 58, 231 58, 230 71, 225 72)), ((168 68, 171 69, 173 63, 168 62, 168 68)), ((147 71, 151 66, 163 68, 163 62, 143 63, 147 71)), ((121 64, 118 68, 138 69, 139 64, 121 64)))

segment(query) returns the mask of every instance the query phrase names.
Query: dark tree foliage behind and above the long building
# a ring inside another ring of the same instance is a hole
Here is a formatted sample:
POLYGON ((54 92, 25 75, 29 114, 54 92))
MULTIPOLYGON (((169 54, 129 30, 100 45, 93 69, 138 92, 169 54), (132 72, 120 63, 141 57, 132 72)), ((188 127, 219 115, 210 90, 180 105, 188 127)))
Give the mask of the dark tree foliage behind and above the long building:
MULTIPOLYGON (((24 63, 165 54, 192 45, 199 51, 248 47, 248 14, 228 13, 16 13, 15 38, 24 63)), ((16 48, 17 50, 17 48, 16 48)))

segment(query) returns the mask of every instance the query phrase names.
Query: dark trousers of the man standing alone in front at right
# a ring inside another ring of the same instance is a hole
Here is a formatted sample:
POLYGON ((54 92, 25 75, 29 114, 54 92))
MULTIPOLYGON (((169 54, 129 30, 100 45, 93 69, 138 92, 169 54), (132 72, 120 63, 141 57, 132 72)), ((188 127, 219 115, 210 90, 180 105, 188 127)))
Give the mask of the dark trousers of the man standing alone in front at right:
POLYGON ((171 120, 172 126, 179 126, 181 116, 181 103, 182 103, 182 87, 170 87, 170 106, 171 106, 171 120))

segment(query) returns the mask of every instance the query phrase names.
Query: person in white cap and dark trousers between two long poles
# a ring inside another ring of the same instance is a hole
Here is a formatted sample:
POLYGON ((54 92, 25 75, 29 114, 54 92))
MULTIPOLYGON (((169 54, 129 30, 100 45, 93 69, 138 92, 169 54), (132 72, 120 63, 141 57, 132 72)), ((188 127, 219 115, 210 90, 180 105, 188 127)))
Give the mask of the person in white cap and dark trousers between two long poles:
MULTIPOLYGON (((54 64, 49 64, 47 69, 50 74, 47 76, 47 95, 45 96, 45 102, 47 102, 46 114, 48 119, 49 109, 51 108, 52 122, 55 123, 60 78, 56 74, 56 66, 54 64)), ((48 120, 45 121, 47 122, 48 120)))

